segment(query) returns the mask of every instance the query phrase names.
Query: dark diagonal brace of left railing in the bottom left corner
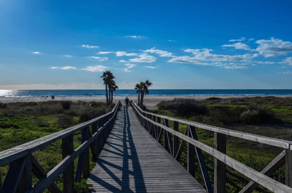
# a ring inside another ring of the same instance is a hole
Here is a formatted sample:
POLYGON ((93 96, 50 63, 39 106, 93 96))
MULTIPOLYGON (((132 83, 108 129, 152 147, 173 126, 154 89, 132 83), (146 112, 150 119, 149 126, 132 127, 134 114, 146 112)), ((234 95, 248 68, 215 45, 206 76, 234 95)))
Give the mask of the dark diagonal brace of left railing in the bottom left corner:
POLYGON ((22 172, 25 168, 26 159, 25 157, 19 158, 11 162, 0 193, 15 193, 22 176, 22 172))

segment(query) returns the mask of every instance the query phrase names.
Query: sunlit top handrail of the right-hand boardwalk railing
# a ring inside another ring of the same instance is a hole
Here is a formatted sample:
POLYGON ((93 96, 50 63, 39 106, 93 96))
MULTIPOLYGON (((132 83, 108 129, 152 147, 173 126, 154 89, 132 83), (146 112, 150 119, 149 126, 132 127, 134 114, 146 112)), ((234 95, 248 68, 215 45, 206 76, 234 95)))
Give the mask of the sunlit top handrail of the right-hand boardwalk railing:
MULTIPOLYGON (((133 102, 133 104, 135 104, 133 102)), ((172 120, 172 121, 177 121, 179 123, 184 123, 187 125, 192 125, 194 127, 198 127, 204 130, 209 130, 212 132, 217 132, 217 133, 222 133, 225 135, 230 135, 232 137, 238 137, 241 139, 247 139, 250 141, 255 141, 255 142, 259 142, 259 143, 263 143, 263 144, 268 144, 268 145, 272 145, 272 146, 276 146, 276 147, 281 147, 284 149, 289 149, 292 150, 292 141, 288 141, 288 140, 284 140, 284 139, 275 139, 272 137, 265 137, 265 136, 261 136, 261 135, 255 135, 255 134, 251 134, 251 133, 245 133, 245 132, 241 132, 241 131, 234 131, 234 130, 230 130, 230 129, 225 129, 222 127, 215 127, 215 126, 211 126, 211 125, 205 125, 203 123, 197 123, 194 121, 188 121, 188 120, 184 120, 184 119, 179 119, 179 118, 173 118, 173 117, 168 117, 168 116, 164 116, 164 115, 158 115, 155 113, 150 113, 147 111, 143 111, 137 104, 135 104, 137 106, 137 108, 139 108, 139 110, 143 113, 147 113, 149 115, 152 116, 158 116, 160 118, 166 118, 168 120, 172 120)))

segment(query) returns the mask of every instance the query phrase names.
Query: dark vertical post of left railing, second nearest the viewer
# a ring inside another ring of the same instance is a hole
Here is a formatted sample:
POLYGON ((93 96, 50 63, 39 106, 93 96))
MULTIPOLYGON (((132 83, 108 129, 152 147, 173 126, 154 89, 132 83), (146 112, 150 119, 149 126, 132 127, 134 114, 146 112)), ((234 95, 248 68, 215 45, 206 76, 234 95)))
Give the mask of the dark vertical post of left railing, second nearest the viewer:
MULTIPOLYGON (((73 134, 62 139, 62 158, 65 159, 73 151, 73 134)), ((63 172, 64 193, 74 192, 74 162, 63 172)))

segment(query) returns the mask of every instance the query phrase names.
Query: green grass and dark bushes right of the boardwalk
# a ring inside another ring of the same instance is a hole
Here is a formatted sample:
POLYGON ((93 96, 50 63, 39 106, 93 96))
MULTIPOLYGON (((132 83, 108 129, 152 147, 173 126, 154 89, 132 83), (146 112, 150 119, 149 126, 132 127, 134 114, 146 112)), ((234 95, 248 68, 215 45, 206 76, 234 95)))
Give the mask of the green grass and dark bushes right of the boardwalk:
MULTIPOLYGON (((291 98, 209 98, 200 102, 189 99, 164 101, 157 106, 158 110, 153 111, 153 113, 292 141, 291 98)), ((171 121, 169 125, 172 127, 171 121)), ((185 132, 186 127, 187 125, 179 123, 179 131, 181 133, 185 132)), ((196 132, 200 142, 214 147, 213 132, 199 128, 196 128, 196 132)), ((186 167, 186 147, 184 151, 180 163, 186 167)), ((227 136, 227 155, 257 171, 263 170, 281 151, 283 151, 281 148, 227 136)), ((213 180, 214 158, 204 152, 203 154, 210 178, 213 180)), ((196 163, 196 168, 196 178, 204 185, 198 163, 196 163)), ((271 178, 285 183, 285 166, 278 169, 271 178)), ((227 192, 239 192, 248 182, 248 178, 227 167, 227 192)), ((270 191, 263 187, 258 187, 254 190, 254 193, 260 192, 270 191)))

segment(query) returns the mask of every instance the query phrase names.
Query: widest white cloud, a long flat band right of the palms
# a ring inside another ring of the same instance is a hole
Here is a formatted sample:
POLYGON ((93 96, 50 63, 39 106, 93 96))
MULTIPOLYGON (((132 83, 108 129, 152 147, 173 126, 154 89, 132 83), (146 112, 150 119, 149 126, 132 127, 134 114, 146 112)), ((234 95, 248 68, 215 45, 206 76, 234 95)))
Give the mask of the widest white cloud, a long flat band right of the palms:
POLYGON ((211 54, 211 49, 186 49, 185 52, 190 52, 194 55, 191 56, 179 56, 177 58, 172 58, 168 62, 176 62, 176 63, 191 63, 191 64, 199 64, 199 65, 213 65, 213 63, 209 62, 248 62, 252 58, 259 56, 259 54, 244 54, 244 55, 218 55, 211 54))

